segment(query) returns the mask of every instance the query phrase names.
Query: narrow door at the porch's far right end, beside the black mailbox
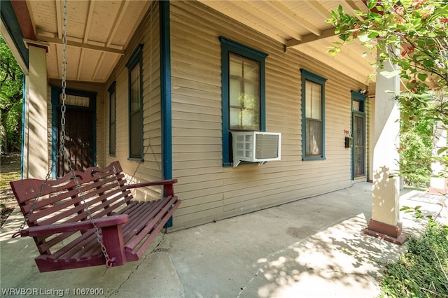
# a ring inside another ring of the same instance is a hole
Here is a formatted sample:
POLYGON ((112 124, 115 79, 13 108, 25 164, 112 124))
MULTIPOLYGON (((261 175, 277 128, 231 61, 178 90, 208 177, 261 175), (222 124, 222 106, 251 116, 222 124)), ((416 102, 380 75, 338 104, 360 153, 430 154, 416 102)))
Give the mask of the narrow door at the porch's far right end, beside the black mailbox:
POLYGON ((365 176, 365 116, 353 113, 353 178, 365 176))

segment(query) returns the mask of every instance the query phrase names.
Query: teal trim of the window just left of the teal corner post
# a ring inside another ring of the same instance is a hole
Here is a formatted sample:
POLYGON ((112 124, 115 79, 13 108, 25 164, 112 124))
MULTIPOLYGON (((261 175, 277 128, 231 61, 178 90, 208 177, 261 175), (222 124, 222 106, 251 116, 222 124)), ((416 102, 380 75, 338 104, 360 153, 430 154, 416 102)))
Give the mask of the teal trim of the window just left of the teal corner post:
POLYGON ((129 120, 129 134, 128 134, 128 136, 129 136, 129 157, 128 157, 128 159, 129 160, 136 160, 136 161, 141 161, 141 160, 143 160, 143 151, 144 151, 144 148, 143 148, 143 66, 142 66, 142 53, 143 53, 143 44, 142 43, 140 43, 138 46, 137 46, 137 48, 134 50, 134 52, 132 53, 132 55, 131 55, 131 57, 130 57, 130 59, 129 59, 129 61, 127 62, 127 64, 126 64, 126 67, 127 67, 127 69, 128 69, 128 76, 127 76, 127 78, 128 78, 128 83, 127 83, 127 85, 128 85, 128 90, 129 90, 129 92, 128 92, 128 97, 129 97, 129 100, 128 100, 128 108, 129 108, 129 113, 128 113, 128 115, 129 115, 129 117, 128 117, 128 120, 129 120), (131 92, 131 85, 132 85, 132 82, 131 82, 131 73, 132 73, 132 70, 136 67, 136 66, 138 66, 139 67, 139 76, 140 76, 140 80, 139 80, 139 94, 140 94, 140 99, 139 99, 139 104, 140 104, 140 112, 139 112, 139 117, 140 117, 140 127, 139 127, 139 132, 140 132, 140 154, 139 154, 139 156, 132 156, 132 154, 131 154, 131 152, 132 152, 132 150, 131 150, 131 146, 132 146, 132 141, 131 141, 131 134, 132 134, 132 127, 131 127, 131 120, 132 120, 132 117, 131 117, 131 110, 132 110, 132 106, 131 106, 131 104, 132 104, 132 92, 131 92))

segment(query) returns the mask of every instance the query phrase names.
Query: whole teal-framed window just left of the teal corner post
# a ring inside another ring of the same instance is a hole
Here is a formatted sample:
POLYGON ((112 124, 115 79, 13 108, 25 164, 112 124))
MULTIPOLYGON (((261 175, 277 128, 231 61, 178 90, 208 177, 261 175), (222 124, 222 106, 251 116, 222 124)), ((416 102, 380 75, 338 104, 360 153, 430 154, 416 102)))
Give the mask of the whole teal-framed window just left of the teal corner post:
POLYGON ((140 44, 126 67, 129 70, 129 157, 143 159, 143 80, 140 44))

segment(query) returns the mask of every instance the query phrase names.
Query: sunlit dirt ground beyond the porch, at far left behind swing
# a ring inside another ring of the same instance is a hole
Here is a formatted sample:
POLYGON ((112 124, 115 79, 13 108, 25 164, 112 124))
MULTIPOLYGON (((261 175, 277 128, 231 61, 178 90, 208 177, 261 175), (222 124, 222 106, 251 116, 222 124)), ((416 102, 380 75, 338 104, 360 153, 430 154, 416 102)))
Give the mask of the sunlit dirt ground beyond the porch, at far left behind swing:
POLYGON ((0 156, 0 226, 15 208, 15 197, 9 187, 9 180, 20 178, 20 153, 13 152, 0 156))

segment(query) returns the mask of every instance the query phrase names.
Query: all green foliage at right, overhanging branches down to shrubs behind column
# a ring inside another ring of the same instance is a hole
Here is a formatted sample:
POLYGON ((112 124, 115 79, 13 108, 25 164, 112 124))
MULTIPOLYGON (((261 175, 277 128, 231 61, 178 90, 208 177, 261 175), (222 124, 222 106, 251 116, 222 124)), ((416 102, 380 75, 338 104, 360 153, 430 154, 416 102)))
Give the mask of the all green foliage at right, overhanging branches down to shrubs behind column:
MULTIPOLYGON (((445 130, 448 125, 448 1, 367 0, 366 5, 367 13, 356 11, 361 20, 342 6, 332 11, 327 22, 335 25, 341 41, 328 51, 336 55, 345 43, 357 39, 366 54, 381 53, 374 65, 381 75, 400 76, 405 86, 396 95, 401 112, 400 171, 419 180, 430 175, 431 162, 448 164, 447 157, 430 156, 433 125, 442 124, 445 130), (386 63, 400 69, 382 71, 386 63)), ((440 148, 439 153, 446 150, 440 148)))

